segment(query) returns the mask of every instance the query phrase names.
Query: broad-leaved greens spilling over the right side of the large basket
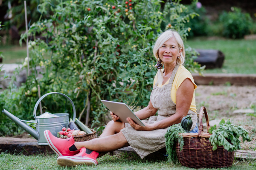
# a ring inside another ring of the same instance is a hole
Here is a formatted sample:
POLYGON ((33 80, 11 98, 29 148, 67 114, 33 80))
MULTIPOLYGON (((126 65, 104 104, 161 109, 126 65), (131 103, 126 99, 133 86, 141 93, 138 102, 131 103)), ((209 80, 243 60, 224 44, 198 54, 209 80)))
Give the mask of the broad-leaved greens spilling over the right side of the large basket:
POLYGON ((248 131, 240 125, 231 124, 230 119, 227 122, 222 119, 220 127, 216 129, 216 125, 214 125, 209 129, 209 133, 212 133, 209 138, 213 146, 212 150, 216 150, 218 146, 224 146, 224 149, 228 151, 241 149, 240 136, 242 136, 243 142, 246 140, 250 142, 251 140, 248 131))

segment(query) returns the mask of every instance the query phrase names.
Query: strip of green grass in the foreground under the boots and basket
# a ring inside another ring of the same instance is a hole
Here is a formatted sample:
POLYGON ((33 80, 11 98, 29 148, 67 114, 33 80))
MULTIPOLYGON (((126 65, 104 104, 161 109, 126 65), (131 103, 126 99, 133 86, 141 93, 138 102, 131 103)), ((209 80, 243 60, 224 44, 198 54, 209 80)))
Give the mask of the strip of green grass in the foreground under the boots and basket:
MULTIPOLYGON (((99 159, 97 166, 80 165, 78 167, 61 167, 56 163, 57 155, 37 155, 37 156, 24 156, 24 155, 10 155, 2 153, 0 155, 0 169, 1 170, 192 170, 193 168, 183 167, 180 164, 170 164, 165 160, 152 161, 149 159, 140 159, 137 155, 128 155, 120 153, 116 156, 105 155, 99 159)), ((214 169, 214 168, 213 168, 214 169)), ((219 168, 228 170, 255 170, 256 161, 234 161, 230 168, 219 168)), ((219 170, 218 169, 218 170, 219 170)), ((194 169, 193 169, 194 170, 194 169)), ((206 170, 206 168, 201 169, 206 170)))

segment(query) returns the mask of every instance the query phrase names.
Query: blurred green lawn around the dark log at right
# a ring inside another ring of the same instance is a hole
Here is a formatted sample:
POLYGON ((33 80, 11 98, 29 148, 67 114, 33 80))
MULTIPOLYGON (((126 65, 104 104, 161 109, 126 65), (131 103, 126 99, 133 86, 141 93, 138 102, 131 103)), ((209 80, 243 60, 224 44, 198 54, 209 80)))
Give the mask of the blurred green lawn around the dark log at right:
POLYGON ((256 40, 188 40, 195 49, 220 50, 225 55, 224 65, 207 69, 204 73, 256 74, 256 40))

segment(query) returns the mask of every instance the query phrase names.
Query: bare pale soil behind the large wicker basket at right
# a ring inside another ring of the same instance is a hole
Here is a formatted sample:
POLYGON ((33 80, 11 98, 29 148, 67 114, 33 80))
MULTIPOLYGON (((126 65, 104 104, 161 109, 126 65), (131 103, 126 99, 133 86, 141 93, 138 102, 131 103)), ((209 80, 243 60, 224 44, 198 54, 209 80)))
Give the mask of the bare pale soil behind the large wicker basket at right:
POLYGON ((209 120, 230 119, 233 124, 244 126, 252 141, 241 144, 241 147, 243 150, 256 150, 256 114, 249 116, 246 113, 233 113, 256 105, 256 86, 198 85, 195 100, 197 112, 201 106, 205 106, 209 120))

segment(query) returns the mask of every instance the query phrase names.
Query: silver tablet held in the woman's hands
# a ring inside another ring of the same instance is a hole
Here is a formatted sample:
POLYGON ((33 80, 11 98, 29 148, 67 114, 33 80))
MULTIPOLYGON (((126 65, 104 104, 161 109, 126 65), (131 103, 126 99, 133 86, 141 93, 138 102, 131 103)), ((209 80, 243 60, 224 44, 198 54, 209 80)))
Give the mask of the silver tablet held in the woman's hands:
POLYGON ((125 105, 125 103, 111 102, 108 100, 101 101, 112 113, 119 117, 121 122, 128 123, 126 118, 130 117, 138 125, 145 126, 143 122, 141 122, 141 120, 131 111, 131 109, 125 105))

